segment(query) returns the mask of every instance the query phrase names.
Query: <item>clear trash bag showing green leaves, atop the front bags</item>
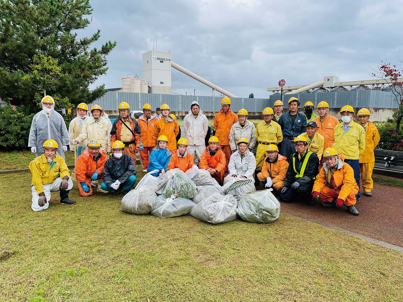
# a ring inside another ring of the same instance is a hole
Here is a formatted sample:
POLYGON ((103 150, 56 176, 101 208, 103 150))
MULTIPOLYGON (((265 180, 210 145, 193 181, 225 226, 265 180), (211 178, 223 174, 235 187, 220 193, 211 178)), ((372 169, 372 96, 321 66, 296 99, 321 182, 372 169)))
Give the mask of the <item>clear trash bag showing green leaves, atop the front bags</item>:
POLYGON ((185 172, 180 169, 172 169, 169 170, 168 175, 164 176, 158 187, 156 188, 157 195, 165 195, 175 197, 182 197, 191 199, 195 197, 196 194, 196 185, 192 182, 189 177, 185 174, 185 172))

